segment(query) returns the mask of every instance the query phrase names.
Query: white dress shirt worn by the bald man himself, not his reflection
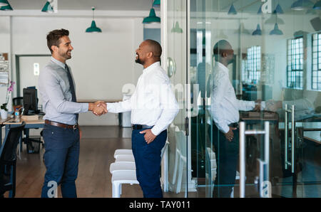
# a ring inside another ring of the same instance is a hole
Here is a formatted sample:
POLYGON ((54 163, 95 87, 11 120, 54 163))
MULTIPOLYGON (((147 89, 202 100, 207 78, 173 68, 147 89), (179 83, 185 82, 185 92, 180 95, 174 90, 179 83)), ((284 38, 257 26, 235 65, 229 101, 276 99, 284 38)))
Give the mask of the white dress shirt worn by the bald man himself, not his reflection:
POLYGON ((131 124, 154 126, 151 131, 158 135, 173 122, 178 103, 168 75, 156 62, 143 70, 129 100, 107 103, 107 110, 114 113, 131 111, 131 124))

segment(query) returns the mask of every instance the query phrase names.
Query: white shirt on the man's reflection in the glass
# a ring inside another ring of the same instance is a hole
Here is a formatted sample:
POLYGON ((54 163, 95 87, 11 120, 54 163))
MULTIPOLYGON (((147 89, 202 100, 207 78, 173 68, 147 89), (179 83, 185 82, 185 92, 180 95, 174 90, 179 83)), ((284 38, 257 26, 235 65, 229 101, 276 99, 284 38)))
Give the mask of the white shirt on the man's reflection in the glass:
POLYGON ((210 113, 216 127, 224 133, 230 130, 229 124, 240 120, 239 110, 253 110, 255 107, 254 101, 243 101, 236 98, 228 76, 228 68, 219 62, 215 62, 213 68, 213 92, 210 103, 210 113))

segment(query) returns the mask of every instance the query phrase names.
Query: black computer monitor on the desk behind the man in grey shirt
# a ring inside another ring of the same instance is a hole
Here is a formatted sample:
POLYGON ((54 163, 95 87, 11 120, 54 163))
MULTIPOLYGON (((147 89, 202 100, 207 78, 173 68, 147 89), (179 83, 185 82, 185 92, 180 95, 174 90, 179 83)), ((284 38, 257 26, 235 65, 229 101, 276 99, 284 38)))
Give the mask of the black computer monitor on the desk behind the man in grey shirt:
POLYGON ((36 88, 24 88, 24 115, 38 113, 38 98, 36 88))

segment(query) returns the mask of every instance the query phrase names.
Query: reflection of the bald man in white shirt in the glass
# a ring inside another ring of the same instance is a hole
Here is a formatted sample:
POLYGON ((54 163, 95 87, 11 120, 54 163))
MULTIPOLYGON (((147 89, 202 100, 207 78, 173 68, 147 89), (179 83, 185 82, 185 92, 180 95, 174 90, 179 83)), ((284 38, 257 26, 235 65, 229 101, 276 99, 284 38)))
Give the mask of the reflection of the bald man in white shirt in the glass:
POLYGON ((230 197, 235 184, 238 161, 239 110, 259 110, 260 102, 238 100, 228 75, 234 51, 228 41, 221 40, 213 48, 213 90, 211 115, 213 118, 213 144, 217 162, 214 197, 230 197))

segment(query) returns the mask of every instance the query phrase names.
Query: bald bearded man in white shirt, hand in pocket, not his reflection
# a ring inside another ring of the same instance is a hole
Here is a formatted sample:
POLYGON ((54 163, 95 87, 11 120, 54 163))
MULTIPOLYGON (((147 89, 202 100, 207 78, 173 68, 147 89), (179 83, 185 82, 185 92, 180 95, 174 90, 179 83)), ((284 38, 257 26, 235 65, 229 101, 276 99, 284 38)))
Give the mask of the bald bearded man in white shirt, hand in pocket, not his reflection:
POLYGON ((161 149, 167 138, 167 127, 178 113, 178 103, 170 80, 161 68, 161 45, 146 40, 136 50, 136 63, 143 65, 131 99, 108 103, 108 112, 131 111, 132 149, 136 176, 144 197, 161 198, 161 149))

